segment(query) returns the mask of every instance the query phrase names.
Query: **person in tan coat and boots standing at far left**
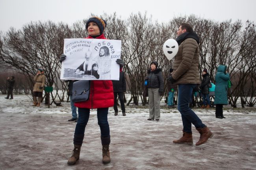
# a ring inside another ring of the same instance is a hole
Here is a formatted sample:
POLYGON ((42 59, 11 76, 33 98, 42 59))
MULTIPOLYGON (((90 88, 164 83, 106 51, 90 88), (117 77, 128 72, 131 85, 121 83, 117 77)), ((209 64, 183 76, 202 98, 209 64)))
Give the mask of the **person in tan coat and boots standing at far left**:
POLYGON ((35 85, 33 89, 33 106, 39 107, 43 98, 43 91, 45 87, 45 72, 43 69, 38 69, 37 74, 34 77, 34 81, 35 85))

